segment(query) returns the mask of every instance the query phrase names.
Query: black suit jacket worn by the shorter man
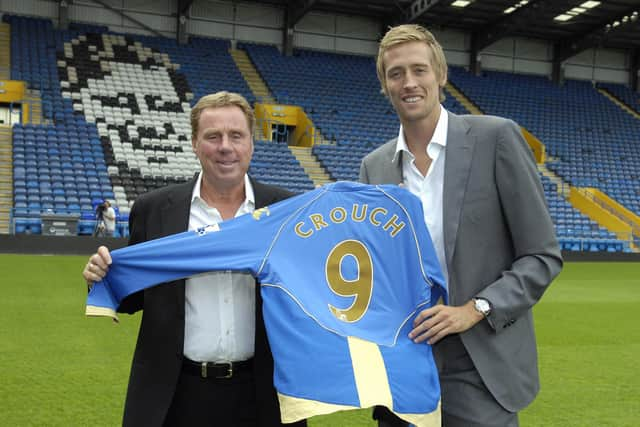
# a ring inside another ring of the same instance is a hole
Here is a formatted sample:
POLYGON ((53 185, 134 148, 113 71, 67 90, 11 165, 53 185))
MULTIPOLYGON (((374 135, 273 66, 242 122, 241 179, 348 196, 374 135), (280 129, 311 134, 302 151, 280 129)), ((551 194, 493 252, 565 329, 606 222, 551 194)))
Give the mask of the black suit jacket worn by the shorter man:
MULTIPOLYGON (((253 180, 251 184, 256 208, 292 195, 278 187, 253 180)), ((129 216, 129 244, 186 231, 194 185, 195 179, 141 195, 129 216)), ((280 411, 273 387, 273 359, 262 319, 262 299, 258 287, 256 292, 254 370, 259 425, 280 426, 280 411)), ((184 305, 183 279, 133 294, 119 308, 124 313, 143 310, 125 402, 125 426, 163 424, 182 366, 184 305)))

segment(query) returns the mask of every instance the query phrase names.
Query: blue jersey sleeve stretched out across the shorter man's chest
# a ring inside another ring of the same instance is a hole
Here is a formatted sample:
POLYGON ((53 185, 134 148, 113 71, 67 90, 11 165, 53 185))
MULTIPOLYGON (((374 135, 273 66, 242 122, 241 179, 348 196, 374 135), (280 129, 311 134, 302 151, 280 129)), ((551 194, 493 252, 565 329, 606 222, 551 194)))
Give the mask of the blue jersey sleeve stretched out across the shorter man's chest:
POLYGON ((86 314, 117 318, 115 311, 128 295, 199 273, 232 270, 256 276, 289 213, 291 200, 217 225, 113 251, 108 274, 89 292, 86 314))

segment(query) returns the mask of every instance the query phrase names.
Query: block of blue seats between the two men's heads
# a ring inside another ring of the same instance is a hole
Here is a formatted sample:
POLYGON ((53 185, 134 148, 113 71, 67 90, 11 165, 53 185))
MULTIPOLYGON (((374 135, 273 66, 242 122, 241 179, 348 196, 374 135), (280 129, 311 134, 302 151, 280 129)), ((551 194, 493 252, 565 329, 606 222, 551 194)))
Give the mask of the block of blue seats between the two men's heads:
MULTIPOLYGON (((372 57, 304 49, 293 56, 274 46, 241 43, 281 104, 302 106, 329 145, 313 154, 334 180, 357 180, 362 157, 397 136, 400 125, 389 101, 380 93, 372 57)), ((445 107, 468 113, 453 97, 445 107)))

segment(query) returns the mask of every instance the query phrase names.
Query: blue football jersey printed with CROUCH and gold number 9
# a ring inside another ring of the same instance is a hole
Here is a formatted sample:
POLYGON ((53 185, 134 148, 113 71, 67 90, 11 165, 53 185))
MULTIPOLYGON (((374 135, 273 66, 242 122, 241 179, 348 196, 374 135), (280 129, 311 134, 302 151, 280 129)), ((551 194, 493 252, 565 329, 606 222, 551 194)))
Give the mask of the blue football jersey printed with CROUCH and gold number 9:
POLYGON ((384 405, 440 425, 431 347, 407 334, 446 288, 422 205, 397 186, 338 182, 217 225, 112 252, 88 315, 123 298, 213 270, 261 284, 284 422, 384 405), (414 222, 415 219, 415 222, 414 222))

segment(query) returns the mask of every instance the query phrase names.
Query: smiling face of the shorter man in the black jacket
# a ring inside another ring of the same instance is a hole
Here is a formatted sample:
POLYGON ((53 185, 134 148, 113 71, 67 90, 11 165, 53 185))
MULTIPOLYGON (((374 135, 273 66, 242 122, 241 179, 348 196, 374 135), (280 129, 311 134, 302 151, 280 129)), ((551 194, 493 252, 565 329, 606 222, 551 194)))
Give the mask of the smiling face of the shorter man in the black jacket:
POLYGON ((205 108, 192 144, 207 182, 218 188, 242 184, 253 155, 253 139, 240 108, 205 108))

